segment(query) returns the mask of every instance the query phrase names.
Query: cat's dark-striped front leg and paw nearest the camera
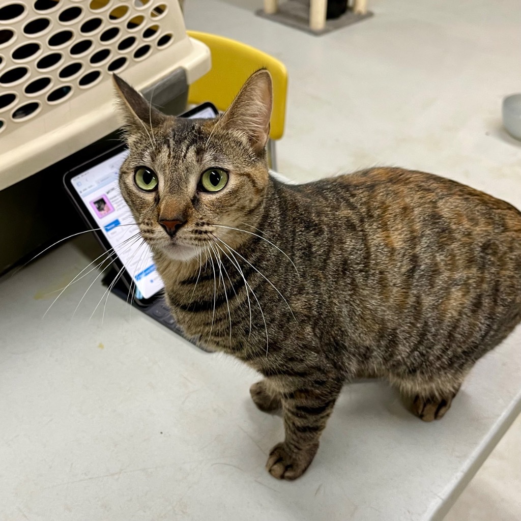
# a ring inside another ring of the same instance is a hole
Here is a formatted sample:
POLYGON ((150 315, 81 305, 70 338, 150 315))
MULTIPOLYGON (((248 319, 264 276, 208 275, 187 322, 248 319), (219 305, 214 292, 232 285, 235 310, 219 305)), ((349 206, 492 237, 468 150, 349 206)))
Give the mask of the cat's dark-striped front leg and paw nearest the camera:
POLYGON ((286 439, 269 454, 266 468, 272 476, 298 478, 313 461, 322 430, 342 389, 342 382, 326 383, 281 394, 286 439))

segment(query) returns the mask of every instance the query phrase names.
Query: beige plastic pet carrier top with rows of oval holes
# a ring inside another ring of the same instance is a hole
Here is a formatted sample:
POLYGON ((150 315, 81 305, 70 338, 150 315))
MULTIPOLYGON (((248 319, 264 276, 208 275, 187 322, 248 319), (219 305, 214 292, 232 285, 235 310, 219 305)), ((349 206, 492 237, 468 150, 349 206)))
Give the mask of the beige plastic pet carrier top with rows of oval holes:
POLYGON ((0 0, 0 190, 118 128, 111 75, 144 90, 210 68, 177 0, 0 0))

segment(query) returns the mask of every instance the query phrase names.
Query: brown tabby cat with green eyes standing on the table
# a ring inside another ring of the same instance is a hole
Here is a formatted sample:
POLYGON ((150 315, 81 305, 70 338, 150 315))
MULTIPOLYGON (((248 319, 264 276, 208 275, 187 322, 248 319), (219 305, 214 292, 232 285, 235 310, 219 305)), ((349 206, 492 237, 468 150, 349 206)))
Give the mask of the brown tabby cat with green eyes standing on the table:
POLYGON ((372 168, 285 184, 268 173, 271 78, 224 115, 166 116, 115 76, 123 197, 187 337, 263 375, 286 437, 266 468, 302 475, 345 382, 386 378, 441 418, 521 318, 521 214, 455 181, 372 168))

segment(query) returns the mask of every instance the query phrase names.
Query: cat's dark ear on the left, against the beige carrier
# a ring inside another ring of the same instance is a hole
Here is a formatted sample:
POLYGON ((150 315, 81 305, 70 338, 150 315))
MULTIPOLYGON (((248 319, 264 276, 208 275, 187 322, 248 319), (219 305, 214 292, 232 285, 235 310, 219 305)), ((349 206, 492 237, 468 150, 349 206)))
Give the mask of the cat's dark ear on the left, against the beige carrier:
POLYGON ((112 78, 124 125, 130 132, 142 132, 143 126, 146 130, 150 130, 166 120, 167 116, 148 103, 125 80, 115 74, 112 78))

